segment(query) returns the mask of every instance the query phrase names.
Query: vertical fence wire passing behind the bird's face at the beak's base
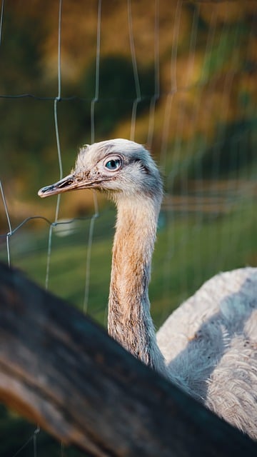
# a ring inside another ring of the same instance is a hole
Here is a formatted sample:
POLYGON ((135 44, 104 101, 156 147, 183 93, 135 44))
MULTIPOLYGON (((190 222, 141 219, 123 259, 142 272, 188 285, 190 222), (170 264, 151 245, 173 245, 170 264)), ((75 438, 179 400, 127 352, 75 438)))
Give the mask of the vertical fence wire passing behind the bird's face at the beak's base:
MULTIPOLYGON (((98 13, 97 13, 97 36, 96 36, 96 84, 95 84, 95 96, 91 101, 91 143, 95 141, 95 106, 99 100, 99 74, 100 74, 100 50, 101 50, 101 0, 98 4, 98 13)), ((88 248, 86 252, 86 280, 85 280, 85 289, 84 289, 84 302, 83 302, 83 311, 86 313, 89 307, 89 286, 90 286, 90 269, 91 269, 91 252, 93 246, 93 236, 94 236, 94 224, 96 218, 99 217, 99 206, 96 196, 96 191, 92 191, 94 199, 94 214, 91 217, 90 226, 89 226, 89 238, 88 238, 88 248)))

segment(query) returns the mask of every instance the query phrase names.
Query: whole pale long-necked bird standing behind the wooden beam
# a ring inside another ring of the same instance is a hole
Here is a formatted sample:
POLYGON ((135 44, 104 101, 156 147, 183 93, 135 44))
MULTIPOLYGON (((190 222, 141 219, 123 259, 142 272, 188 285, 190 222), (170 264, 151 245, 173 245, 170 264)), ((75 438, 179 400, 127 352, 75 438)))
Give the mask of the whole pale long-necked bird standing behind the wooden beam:
POLYGON ((116 204, 109 335, 146 365, 257 440, 257 268, 217 273, 156 333, 148 284, 163 182, 145 146, 112 139, 82 146, 48 197, 96 189, 116 204))

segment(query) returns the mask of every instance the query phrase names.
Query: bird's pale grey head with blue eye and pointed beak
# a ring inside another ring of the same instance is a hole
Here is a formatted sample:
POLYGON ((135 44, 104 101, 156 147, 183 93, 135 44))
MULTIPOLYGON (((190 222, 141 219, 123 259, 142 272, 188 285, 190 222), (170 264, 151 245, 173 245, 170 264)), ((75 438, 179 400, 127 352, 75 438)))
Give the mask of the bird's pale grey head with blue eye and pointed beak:
POLYGON ((114 201, 122 197, 162 196, 161 176, 150 154, 141 144, 126 139, 82 147, 71 174, 40 189, 39 196, 76 189, 104 191, 114 201))

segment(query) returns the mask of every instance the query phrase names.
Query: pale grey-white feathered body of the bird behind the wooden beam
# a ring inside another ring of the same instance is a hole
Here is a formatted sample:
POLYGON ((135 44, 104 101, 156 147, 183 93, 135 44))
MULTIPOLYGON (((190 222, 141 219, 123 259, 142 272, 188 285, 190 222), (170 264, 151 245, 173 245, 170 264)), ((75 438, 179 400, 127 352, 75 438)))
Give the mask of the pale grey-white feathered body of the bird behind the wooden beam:
POLYGON ((171 381, 257 439, 257 268, 206 281, 157 342, 171 381))

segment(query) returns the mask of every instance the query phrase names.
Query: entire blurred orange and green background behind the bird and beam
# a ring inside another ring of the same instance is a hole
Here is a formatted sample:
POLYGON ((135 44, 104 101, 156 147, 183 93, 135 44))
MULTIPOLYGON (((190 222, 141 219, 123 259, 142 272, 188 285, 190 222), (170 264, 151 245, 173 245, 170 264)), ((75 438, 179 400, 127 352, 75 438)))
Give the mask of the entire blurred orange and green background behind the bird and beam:
MULTIPOLYGON (((257 263, 257 2, 102 1, 93 119, 98 6, 62 3, 61 166, 68 174, 92 134, 132 135, 151 149, 166 190, 150 287, 158 328, 213 274, 257 263)), ((95 218, 91 192, 67 194, 61 224, 50 226, 56 199, 37 196, 60 175, 59 1, 8 0, 3 11, 0 179, 12 234, 7 243, 0 197, 0 258, 42 286, 47 276, 51 291, 106 325, 114 207, 99 198, 95 218)), ((3 407, 1 456, 16 455, 32 436, 19 452, 31 455, 33 431, 3 407)), ((43 432, 36 442, 39 455, 60 455, 43 432)))

